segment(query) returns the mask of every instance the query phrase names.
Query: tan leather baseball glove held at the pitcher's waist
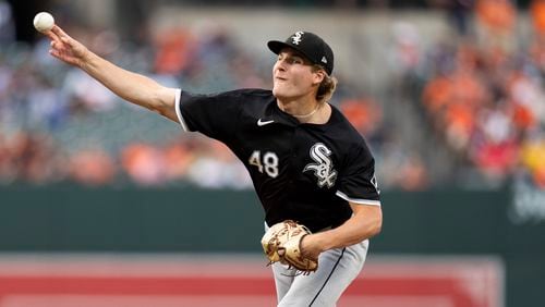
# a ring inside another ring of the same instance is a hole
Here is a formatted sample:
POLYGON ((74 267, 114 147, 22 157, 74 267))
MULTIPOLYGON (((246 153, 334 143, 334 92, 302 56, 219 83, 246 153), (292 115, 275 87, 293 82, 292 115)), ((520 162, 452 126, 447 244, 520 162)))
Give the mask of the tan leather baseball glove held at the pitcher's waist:
POLYGON ((280 261, 303 273, 318 269, 318 259, 312 258, 301 250, 301 242, 311 231, 292 220, 272 225, 263 236, 263 251, 269 259, 269 265, 280 261))

